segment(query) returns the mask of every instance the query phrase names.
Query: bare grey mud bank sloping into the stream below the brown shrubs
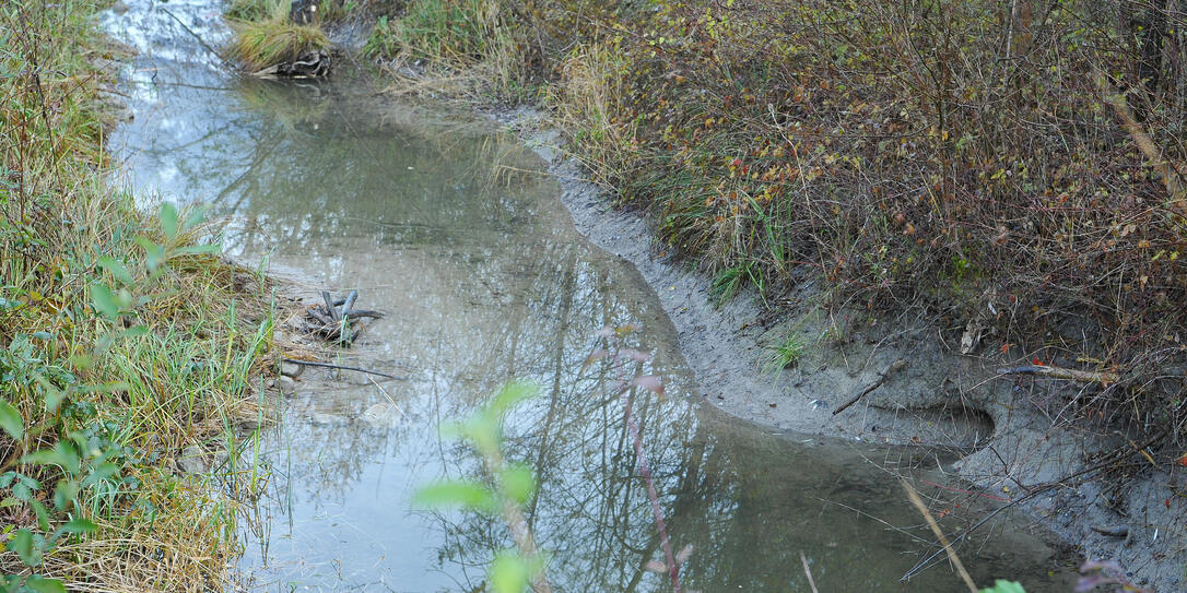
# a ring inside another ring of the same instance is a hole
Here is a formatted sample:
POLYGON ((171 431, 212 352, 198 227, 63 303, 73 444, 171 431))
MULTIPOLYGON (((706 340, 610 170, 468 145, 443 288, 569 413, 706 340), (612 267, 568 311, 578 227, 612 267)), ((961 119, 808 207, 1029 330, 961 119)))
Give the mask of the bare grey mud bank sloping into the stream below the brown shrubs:
POLYGON ((1145 445, 1129 435, 1064 421, 1060 407, 1083 385, 1002 376, 1002 361, 957 353, 959 344, 921 317, 875 319, 830 306, 811 278, 780 296, 777 317, 751 292, 715 307, 706 275, 671 257, 645 217, 612 208, 563 157, 545 119, 531 110, 496 119, 551 162, 577 229, 655 289, 704 400, 779 431, 951 449, 960 460, 941 470, 972 482, 982 496, 1026 509, 1081 556, 1116 560, 1143 587, 1183 589, 1187 483, 1141 467, 1145 445), (804 355, 770 372, 764 361, 788 333, 804 355), (888 374, 897 361, 904 366, 888 374), (880 387, 833 414, 872 385, 880 387), (1129 467, 1123 485, 1122 466, 1129 467))

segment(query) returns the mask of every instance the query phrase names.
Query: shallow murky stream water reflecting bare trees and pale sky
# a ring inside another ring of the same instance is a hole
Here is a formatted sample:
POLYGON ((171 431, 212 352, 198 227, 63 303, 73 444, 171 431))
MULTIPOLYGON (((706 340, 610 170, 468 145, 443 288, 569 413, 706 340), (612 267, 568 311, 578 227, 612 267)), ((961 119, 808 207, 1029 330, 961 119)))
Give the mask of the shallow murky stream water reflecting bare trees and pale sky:
MULTIPOLYGON (((642 569, 661 553, 621 403, 604 368, 582 365, 598 329, 635 324, 631 345, 655 353, 640 371, 667 384, 666 398, 645 391, 635 406, 674 546, 693 546, 687 587, 810 591, 802 553, 821 591, 960 589, 940 561, 900 582, 937 548, 893 471, 927 480, 950 529, 978 517, 945 490, 959 485, 935 470, 942 459, 769 434, 705 404, 713 385, 690 378, 654 293, 575 232, 542 164, 494 125, 393 104, 344 77, 228 75, 197 40, 223 40, 207 2, 132 1, 104 25, 140 52, 121 87, 134 117, 110 139, 128 183, 146 202, 230 217, 224 246, 243 261, 357 289, 360 306, 387 317, 338 362, 407 377, 300 377, 259 439, 271 478, 243 521, 233 587, 485 591, 506 529, 410 498, 429 480, 477 476, 470 449, 437 427, 529 378, 540 396, 508 417, 506 449, 539 477, 526 512, 551 580, 570 592, 667 589, 642 569)), ((978 582, 1069 589, 1037 537, 994 525, 960 548, 978 582)))

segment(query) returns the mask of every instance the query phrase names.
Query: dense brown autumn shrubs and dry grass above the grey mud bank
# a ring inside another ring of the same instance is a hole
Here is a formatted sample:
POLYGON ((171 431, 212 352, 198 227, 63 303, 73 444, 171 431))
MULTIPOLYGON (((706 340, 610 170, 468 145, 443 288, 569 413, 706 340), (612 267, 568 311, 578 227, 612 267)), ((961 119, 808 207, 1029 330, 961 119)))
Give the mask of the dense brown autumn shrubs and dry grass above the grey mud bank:
MULTIPOLYGON (((1187 17, 1173 2, 410 0, 400 84, 542 102, 669 251, 774 311, 926 311, 1083 372, 1071 416, 1187 440, 1187 17)), ((1141 439, 1140 439, 1141 440, 1141 439)))

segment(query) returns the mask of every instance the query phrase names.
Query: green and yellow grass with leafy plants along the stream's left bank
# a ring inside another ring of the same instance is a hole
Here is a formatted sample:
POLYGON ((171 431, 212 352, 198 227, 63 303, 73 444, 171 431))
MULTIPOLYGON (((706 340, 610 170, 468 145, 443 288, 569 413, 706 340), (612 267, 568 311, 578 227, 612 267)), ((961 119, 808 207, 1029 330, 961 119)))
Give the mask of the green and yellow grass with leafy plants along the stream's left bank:
POLYGON ((272 305, 199 211, 112 187, 96 8, 0 13, 0 591, 221 589, 250 468, 177 459, 262 419, 272 305))

